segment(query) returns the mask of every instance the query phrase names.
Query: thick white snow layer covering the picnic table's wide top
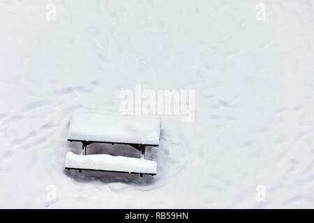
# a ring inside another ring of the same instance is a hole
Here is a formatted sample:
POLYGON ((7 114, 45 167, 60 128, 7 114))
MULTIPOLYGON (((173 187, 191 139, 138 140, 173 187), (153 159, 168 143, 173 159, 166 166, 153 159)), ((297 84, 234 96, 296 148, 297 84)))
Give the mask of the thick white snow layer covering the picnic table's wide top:
POLYGON ((160 118, 73 112, 68 139, 158 145, 160 118))

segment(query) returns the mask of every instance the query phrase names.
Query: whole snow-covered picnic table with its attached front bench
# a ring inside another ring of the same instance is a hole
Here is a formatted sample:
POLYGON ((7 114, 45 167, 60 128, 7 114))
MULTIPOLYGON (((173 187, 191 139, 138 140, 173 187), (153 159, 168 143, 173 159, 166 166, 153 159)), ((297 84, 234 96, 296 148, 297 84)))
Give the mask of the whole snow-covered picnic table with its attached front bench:
POLYGON ((156 175, 155 161, 145 160, 145 147, 158 146, 159 117, 120 116, 98 112, 73 112, 68 141, 82 142, 84 155, 66 154, 66 169, 114 171, 156 175), (140 151, 140 159, 106 154, 87 155, 92 143, 128 144, 140 151))

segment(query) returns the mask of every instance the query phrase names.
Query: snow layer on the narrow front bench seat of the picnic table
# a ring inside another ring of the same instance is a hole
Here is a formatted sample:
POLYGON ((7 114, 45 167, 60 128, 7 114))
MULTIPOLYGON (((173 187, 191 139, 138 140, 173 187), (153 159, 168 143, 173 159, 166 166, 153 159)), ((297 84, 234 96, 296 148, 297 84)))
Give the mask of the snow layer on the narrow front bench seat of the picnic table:
POLYGON ((107 154, 77 155, 66 153, 66 168, 126 171, 142 174, 156 174, 155 161, 135 157, 112 156, 107 154))

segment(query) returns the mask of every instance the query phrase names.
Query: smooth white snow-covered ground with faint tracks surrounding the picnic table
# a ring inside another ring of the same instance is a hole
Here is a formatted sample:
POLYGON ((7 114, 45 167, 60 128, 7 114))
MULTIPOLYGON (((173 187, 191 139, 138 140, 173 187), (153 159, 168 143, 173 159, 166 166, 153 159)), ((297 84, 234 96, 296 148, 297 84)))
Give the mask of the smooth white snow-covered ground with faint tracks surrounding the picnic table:
POLYGON ((0 97, 0 208, 314 208, 314 1, 0 0, 0 97), (65 170, 71 113, 136 84, 195 90, 157 175, 65 170))

